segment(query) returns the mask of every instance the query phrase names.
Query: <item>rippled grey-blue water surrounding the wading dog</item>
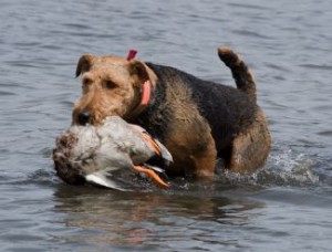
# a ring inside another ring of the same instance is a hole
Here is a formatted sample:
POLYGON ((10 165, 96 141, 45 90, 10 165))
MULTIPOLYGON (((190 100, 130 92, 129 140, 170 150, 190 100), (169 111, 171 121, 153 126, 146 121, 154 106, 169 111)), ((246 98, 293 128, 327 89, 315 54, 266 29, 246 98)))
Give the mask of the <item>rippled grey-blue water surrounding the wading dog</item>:
POLYGON ((0 3, 1 251, 331 251, 331 1, 0 3), (262 171, 135 193, 56 178, 83 53, 135 48, 234 85, 219 44, 255 71, 273 137, 262 171))

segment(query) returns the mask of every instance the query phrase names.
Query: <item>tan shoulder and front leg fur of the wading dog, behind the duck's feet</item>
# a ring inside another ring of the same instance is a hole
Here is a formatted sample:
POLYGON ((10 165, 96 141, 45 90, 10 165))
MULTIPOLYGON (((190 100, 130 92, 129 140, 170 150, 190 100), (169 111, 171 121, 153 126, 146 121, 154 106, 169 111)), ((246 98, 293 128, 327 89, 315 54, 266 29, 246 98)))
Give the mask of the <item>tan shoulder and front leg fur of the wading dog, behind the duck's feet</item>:
POLYGON ((215 140, 208 123, 191 102, 191 90, 180 81, 166 90, 167 106, 176 111, 165 141, 175 160, 169 169, 181 172, 186 167, 195 167, 196 177, 211 178, 217 158, 215 140))

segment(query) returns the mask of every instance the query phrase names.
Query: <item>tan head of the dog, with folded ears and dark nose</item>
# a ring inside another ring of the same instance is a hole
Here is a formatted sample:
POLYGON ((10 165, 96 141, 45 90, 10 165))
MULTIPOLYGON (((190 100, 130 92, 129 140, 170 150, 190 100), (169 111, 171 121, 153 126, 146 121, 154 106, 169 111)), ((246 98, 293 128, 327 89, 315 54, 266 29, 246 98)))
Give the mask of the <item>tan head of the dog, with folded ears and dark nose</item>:
POLYGON ((81 56, 76 76, 81 76, 83 94, 73 109, 73 125, 98 125, 112 115, 129 117, 152 75, 141 61, 113 55, 81 56))

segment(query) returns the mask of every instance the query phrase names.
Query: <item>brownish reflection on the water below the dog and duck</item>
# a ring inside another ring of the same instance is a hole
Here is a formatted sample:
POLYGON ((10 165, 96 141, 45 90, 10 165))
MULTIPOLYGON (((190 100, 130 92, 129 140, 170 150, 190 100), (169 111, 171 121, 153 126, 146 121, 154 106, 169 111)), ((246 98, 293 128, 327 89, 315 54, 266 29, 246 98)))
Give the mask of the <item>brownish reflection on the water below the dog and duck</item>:
MULTIPOLYGON (((61 186, 54 195, 55 211, 66 213, 68 227, 89 230, 68 241, 116 245, 190 240, 224 240, 219 230, 248 224, 260 202, 186 192, 120 192, 91 187, 61 186), (94 232, 95 231, 95 232, 94 232)), ((79 232, 80 233, 80 232, 79 232)), ((224 234, 225 237, 225 234, 224 234)), ((227 240, 227 239, 226 239, 227 240)), ((169 245, 169 244, 168 244, 169 245)))

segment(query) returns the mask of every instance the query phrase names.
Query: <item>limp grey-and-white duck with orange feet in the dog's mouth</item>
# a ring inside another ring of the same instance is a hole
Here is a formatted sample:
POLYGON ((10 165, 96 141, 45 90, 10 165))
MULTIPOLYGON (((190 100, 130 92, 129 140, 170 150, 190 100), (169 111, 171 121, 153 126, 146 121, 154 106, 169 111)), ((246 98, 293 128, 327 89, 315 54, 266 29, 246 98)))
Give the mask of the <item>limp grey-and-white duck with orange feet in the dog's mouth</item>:
POLYGON ((148 162, 158 158, 167 167, 173 162, 172 154, 143 127, 120 116, 108 116, 98 126, 72 125, 56 137, 55 146, 56 175, 70 185, 87 182, 127 191, 113 175, 131 170, 147 176, 164 189, 170 186, 159 176, 165 170, 148 162))

